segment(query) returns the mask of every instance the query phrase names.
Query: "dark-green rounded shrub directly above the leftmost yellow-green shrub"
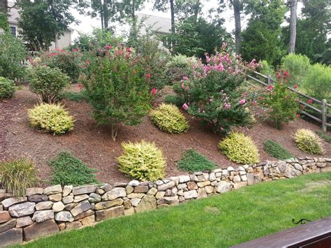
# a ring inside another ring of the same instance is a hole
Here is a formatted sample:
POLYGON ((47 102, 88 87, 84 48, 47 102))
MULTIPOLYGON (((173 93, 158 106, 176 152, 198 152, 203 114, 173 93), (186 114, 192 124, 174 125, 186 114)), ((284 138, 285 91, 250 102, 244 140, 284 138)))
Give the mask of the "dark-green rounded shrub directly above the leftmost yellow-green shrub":
POLYGON ((34 66, 29 72, 29 87, 43 103, 54 103, 64 87, 69 84, 69 77, 59 68, 34 66))

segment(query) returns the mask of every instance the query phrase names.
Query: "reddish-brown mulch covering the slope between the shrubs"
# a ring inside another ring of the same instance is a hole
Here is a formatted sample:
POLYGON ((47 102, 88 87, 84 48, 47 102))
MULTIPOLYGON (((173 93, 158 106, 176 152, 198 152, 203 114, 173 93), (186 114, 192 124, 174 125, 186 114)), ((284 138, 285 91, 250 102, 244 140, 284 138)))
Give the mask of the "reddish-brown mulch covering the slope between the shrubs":
MULTIPOLYGON (((159 131, 146 117, 138 126, 122 126, 116 142, 112 141, 110 126, 98 126, 91 118, 91 108, 85 102, 64 101, 64 105, 75 115, 75 129, 63 136, 52 136, 31 129, 28 125, 27 109, 37 103, 36 96, 24 87, 15 93, 13 99, 0 101, 0 161, 19 156, 29 156, 38 166, 42 180, 50 177, 47 161, 59 152, 68 150, 91 168, 97 169, 98 180, 102 182, 127 182, 129 179, 117 170, 116 157, 122 154, 122 142, 135 140, 154 141, 167 158, 166 175, 185 172, 177 169, 176 161, 184 150, 193 148, 207 156, 220 167, 238 166, 219 153, 217 144, 221 136, 202 126, 198 119, 186 115, 189 120, 188 133, 175 135, 159 131)), ((295 146, 291 135, 296 129, 321 130, 319 126, 297 119, 279 131, 266 123, 256 124, 247 130, 260 149, 261 160, 275 160, 263 151, 263 141, 272 139, 281 143, 295 156, 308 156, 295 146)), ((330 135, 330 133, 328 133, 330 135)), ((323 142, 325 154, 331 157, 331 145, 323 142)))

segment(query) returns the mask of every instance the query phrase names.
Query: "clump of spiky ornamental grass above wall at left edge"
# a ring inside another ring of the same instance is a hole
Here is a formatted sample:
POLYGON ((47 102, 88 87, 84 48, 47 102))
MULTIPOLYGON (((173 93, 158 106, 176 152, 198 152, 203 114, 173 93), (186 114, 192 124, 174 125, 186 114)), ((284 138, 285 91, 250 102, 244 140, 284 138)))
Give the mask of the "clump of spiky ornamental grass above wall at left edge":
POLYGON ((0 163, 2 187, 14 196, 25 196, 25 189, 38 182, 37 170, 29 159, 21 158, 0 163))

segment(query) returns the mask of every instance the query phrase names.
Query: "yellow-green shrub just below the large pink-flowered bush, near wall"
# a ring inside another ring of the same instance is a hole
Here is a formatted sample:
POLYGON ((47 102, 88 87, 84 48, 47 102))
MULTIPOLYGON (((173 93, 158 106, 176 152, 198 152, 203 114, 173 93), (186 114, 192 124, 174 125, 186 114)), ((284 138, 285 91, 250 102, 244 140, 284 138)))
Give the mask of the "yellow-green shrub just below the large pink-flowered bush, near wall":
POLYGON ((260 159, 255 143, 251 137, 244 136, 244 133, 230 133, 220 141, 219 149, 236 163, 252 164, 258 163, 260 159))

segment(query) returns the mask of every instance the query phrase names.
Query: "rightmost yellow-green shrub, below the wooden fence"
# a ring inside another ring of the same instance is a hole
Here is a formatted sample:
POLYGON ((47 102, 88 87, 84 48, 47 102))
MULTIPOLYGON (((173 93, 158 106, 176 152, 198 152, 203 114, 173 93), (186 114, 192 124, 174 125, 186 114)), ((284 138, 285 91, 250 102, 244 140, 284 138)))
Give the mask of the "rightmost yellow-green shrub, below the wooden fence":
POLYGON ((309 129, 297 129, 294 135, 297 148, 310 154, 323 154, 321 140, 309 129))

